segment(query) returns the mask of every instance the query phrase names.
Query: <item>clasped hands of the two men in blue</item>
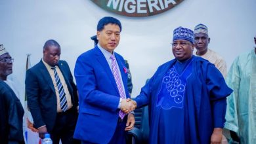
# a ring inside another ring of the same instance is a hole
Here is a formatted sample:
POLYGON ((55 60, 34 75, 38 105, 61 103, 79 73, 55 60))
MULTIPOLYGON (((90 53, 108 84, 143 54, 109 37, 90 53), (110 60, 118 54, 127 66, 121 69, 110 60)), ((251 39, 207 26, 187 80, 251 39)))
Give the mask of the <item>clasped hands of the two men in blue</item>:
POLYGON ((133 99, 121 99, 120 109, 123 111, 123 113, 128 114, 131 111, 134 111, 136 107, 137 103, 133 99))

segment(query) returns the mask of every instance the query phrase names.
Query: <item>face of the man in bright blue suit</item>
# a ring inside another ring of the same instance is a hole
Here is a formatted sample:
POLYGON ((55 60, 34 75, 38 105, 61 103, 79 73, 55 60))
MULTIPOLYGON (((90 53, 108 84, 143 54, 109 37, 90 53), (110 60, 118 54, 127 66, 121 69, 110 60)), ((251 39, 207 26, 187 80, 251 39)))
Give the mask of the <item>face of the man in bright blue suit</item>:
POLYGON ((97 31, 98 44, 108 52, 113 52, 120 41, 120 27, 116 24, 107 24, 102 31, 97 31))

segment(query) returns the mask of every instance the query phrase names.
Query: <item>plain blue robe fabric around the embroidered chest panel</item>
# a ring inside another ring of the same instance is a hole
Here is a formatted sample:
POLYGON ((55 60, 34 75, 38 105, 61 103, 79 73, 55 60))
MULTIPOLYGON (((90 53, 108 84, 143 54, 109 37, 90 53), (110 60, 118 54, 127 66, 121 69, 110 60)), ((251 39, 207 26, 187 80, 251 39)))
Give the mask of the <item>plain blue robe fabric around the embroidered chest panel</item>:
MULTIPOLYGON (((184 62, 189 63, 189 61, 184 62)), ((186 79, 183 108, 157 106, 163 77, 171 67, 182 75, 186 64, 174 59, 164 63, 135 98, 138 107, 148 105, 150 143, 210 143, 213 128, 223 128, 226 96, 232 90, 223 75, 207 60, 192 56, 192 71, 186 79)))

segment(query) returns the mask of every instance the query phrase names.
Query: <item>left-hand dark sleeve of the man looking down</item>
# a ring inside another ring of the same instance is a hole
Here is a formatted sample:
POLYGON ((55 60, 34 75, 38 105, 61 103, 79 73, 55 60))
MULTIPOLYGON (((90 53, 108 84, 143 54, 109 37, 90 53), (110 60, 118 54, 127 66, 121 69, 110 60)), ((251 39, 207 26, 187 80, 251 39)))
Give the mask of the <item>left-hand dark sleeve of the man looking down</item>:
POLYGON ((33 117, 33 124, 35 128, 39 128, 45 125, 41 115, 41 109, 39 107, 39 84, 36 78, 35 73, 30 69, 26 71, 26 94, 28 98, 28 107, 33 117))

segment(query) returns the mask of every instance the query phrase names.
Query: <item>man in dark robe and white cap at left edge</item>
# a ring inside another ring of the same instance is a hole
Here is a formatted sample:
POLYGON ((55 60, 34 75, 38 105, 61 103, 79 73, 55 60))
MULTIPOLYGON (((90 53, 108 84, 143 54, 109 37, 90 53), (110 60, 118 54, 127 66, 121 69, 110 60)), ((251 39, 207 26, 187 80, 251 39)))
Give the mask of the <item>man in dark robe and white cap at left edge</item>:
POLYGON ((4 81, 12 73, 9 52, 0 45, 0 141, 1 143, 24 143, 22 120, 24 110, 12 88, 4 81))

